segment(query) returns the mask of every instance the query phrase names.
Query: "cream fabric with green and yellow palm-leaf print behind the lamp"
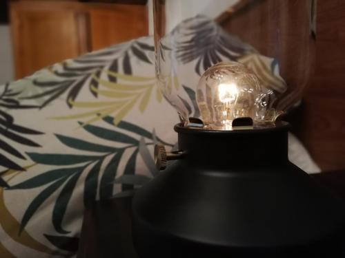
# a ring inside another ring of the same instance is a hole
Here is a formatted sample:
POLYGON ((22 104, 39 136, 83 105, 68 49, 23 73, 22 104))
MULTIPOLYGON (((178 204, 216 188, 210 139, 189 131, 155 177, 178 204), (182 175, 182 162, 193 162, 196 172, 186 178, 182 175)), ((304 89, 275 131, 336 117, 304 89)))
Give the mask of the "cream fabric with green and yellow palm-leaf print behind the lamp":
MULTIPOLYGON (((247 62, 248 53, 237 58, 247 62)), ((190 74, 207 68, 184 62, 190 74)), ((181 90, 186 109, 197 112, 193 87, 181 90)), ((84 206, 157 175, 153 145, 173 147, 177 122, 155 83, 151 37, 1 85, 0 257, 75 255, 84 206)), ((293 162, 319 171, 296 138, 290 147, 293 162)))

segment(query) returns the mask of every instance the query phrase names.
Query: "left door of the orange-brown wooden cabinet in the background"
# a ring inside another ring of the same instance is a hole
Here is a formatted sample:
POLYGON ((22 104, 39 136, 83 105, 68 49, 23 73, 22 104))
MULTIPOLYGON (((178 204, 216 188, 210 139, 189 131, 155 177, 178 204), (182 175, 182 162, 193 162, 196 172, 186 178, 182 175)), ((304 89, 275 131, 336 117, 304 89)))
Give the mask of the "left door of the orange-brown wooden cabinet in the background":
POLYGON ((39 1, 10 4, 16 78, 88 50, 86 13, 69 7, 39 1))

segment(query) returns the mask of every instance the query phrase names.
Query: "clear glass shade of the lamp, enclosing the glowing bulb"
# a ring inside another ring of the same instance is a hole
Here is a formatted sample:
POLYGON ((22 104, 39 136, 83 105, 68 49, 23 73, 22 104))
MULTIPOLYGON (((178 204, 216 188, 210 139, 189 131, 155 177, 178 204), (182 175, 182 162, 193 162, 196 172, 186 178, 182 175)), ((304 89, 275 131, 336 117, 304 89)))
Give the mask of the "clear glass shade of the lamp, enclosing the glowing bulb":
POLYGON ((314 63, 313 0, 153 0, 157 83, 181 121, 274 126, 314 63))

